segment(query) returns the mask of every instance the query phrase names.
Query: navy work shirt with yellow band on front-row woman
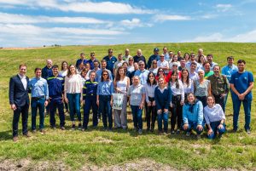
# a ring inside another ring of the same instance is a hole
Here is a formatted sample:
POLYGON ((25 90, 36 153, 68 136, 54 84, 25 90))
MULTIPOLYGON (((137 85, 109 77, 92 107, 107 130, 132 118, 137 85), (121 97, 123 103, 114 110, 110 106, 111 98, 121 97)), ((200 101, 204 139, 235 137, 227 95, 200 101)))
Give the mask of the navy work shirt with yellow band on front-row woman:
POLYGON ((96 81, 91 82, 90 79, 86 80, 83 88, 83 99, 96 98, 98 83, 96 81))

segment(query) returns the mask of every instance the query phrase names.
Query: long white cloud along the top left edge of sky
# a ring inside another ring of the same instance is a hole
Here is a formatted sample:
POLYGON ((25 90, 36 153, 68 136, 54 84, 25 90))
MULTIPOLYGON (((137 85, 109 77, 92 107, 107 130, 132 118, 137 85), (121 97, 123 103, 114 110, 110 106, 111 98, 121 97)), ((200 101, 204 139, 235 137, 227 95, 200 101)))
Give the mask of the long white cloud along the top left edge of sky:
POLYGON ((19 0, 3 1, 0 3, 11 4, 16 6, 40 7, 44 9, 58 9, 61 11, 73 11, 79 13, 98 13, 98 14, 153 14, 150 9, 141 9, 128 3, 101 2, 95 3, 90 1, 56 1, 56 0, 19 0))

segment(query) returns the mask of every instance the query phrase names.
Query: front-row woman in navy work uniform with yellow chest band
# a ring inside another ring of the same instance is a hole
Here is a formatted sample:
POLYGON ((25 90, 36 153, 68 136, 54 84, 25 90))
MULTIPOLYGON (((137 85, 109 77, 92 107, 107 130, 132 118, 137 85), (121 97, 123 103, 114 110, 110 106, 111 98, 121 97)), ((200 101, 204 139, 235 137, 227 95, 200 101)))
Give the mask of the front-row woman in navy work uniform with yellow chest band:
POLYGON ((90 71, 90 79, 86 80, 83 88, 83 99, 84 99, 84 131, 88 127, 90 108, 92 108, 92 123, 93 127, 96 128, 98 125, 97 111, 98 106, 96 104, 96 91, 98 83, 96 82, 96 71, 90 71))

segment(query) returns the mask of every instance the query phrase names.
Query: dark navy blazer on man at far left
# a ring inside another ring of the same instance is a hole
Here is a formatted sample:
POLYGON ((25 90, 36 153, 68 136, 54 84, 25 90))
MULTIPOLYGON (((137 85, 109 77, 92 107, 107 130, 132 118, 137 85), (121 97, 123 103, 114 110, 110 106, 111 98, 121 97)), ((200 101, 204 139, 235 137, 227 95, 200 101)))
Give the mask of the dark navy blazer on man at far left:
POLYGON ((11 77, 9 80, 9 104, 18 106, 29 105, 28 96, 28 82, 29 78, 26 77, 26 89, 24 88, 19 75, 11 77))

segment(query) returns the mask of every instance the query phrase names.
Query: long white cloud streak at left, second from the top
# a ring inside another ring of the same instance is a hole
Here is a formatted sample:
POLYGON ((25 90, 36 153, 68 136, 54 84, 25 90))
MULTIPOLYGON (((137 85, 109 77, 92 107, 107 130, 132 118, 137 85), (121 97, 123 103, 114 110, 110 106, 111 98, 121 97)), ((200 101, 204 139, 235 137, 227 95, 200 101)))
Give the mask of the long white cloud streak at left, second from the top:
POLYGON ((90 17, 49 17, 30 16, 24 14, 7 14, 0 12, 0 23, 6 24, 32 24, 32 23, 79 23, 79 24, 106 24, 107 20, 97 20, 90 17))

